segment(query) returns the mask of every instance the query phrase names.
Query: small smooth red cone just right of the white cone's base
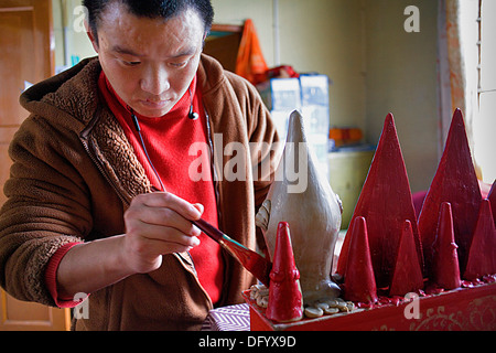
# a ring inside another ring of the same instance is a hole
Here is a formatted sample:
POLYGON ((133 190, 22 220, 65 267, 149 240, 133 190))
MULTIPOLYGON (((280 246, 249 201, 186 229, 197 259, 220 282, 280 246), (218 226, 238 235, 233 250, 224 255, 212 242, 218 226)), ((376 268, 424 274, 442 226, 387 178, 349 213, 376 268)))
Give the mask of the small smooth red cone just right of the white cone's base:
POLYGON ((344 277, 344 298, 357 302, 377 301, 377 287, 368 247, 367 223, 354 220, 349 256, 344 277))

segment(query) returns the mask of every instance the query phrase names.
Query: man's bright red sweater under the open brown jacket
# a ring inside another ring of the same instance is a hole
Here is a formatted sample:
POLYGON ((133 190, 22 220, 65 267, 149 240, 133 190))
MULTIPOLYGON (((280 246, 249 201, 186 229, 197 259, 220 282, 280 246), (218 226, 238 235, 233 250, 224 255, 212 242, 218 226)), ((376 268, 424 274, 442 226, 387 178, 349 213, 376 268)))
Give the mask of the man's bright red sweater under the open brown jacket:
MULTIPOLYGON (((160 190, 159 180, 144 154, 131 114, 106 79, 104 72, 101 72, 98 81, 98 87, 109 109, 121 125, 150 181, 160 190)), ((205 207, 202 218, 218 226, 217 204, 207 143, 206 116, 201 104, 201 92, 196 89, 196 77, 191 84, 191 92, 193 93, 193 109, 200 114, 197 120, 187 118, 191 107, 190 90, 186 90, 186 94, 164 117, 148 118, 138 114, 137 117, 150 160, 166 191, 190 203, 202 203, 205 207), (203 167, 206 167, 207 170, 203 170, 203 167), (196 180, 192 180, 190 176, 196 180), (197 180, 198 176, 202 178, 197 180)), ((217 243, 203 233, 200 240, 201 245, 192 249, 190 254, 195 264, 200 282, 215 304, 220 299, 224 281, 222 250, 217 243)), ((56 291, 56 268, 71 247, 61 248, 52 257, 45 272, 48 290, 60 307, 77 304, 77 302, 64 301, 63 298, 58 298, 56 291)))

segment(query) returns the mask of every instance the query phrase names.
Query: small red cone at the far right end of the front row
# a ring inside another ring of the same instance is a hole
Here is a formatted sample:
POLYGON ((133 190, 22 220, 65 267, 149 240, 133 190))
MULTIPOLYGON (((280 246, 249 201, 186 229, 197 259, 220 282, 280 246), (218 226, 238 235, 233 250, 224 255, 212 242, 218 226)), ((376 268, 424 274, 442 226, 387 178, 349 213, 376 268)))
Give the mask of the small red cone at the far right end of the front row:
POLYGON ((486 199, 481 204, 463 278, 475 280, 494 274, 496 274, 496 229, 490 204, 486 199))

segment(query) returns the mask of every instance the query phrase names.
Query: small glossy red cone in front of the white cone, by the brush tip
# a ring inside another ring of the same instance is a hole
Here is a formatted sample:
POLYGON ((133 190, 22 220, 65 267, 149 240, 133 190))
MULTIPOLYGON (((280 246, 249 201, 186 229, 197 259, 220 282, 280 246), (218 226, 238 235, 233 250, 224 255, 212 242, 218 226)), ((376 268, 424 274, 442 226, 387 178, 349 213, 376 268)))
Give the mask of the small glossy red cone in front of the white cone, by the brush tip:
POLYGON ((303 297, 299 279, 300 271, 294 264, 289 224, 280 222, 270 272, 269 303, 266 311, 268 319, 292 322, 303 318, 303 297))

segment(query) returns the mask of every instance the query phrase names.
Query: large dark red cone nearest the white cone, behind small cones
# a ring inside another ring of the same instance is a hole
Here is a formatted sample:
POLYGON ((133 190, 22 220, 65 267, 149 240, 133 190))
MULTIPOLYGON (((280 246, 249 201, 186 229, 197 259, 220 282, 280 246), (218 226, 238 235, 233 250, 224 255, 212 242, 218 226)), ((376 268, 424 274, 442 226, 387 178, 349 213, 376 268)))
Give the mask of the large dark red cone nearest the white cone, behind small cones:
MULTIPOLYGON (((364 216, 367 220, 377 287, 389 286, 405 220, 411 222, 417 255, 422 264, 422 248, 410 183, 391 114, 386 117, 376 153, 355 206, 348 234, 353 234, 353 220, 357 216, 364 216)), ((351 237, 346 236, 343 243, 337 263, 338 274, 344 274, 349 256, 349 239, 351 237)))

